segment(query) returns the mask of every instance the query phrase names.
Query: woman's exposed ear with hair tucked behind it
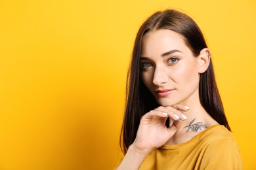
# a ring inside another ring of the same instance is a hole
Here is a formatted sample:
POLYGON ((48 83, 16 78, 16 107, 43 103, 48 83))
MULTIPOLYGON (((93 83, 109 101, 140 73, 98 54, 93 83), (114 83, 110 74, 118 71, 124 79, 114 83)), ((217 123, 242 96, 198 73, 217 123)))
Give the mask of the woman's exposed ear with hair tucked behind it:
POLYGON ((211 61, 211 52, 208 48, 203 48, 203 50, 201 50, 200 55, 198 56, 198 61, 198 73, 204 73, 207 70, 211 61))

